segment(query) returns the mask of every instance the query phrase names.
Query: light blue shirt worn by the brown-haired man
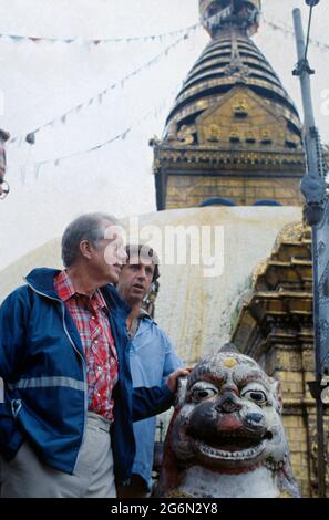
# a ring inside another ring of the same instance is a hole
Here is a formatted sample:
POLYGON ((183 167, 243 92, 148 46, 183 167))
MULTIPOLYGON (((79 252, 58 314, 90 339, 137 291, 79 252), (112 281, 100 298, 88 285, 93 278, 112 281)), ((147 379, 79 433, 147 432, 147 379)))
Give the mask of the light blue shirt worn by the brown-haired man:
MULTIPOLYGON (((131 346, 133 386, 161 386, 181 366, 183 363, 167 335, 152 318, 142 318, 131 346)), ((156 417, 134 423, 136 455, 133 474, 140 475, 148 487, 152 483, 155 428, 156 417)))

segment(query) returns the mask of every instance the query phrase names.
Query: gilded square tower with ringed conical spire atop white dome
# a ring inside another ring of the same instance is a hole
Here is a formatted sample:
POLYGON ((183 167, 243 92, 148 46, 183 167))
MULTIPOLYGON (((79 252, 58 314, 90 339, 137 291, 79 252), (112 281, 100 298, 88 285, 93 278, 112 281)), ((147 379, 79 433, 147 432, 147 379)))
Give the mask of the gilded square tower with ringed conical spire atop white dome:
POLYGON ((251 41, 260 0, 199 0, 212 40, 151 142, 157 209, 299 206, 305 170, 295 104, 251 41))

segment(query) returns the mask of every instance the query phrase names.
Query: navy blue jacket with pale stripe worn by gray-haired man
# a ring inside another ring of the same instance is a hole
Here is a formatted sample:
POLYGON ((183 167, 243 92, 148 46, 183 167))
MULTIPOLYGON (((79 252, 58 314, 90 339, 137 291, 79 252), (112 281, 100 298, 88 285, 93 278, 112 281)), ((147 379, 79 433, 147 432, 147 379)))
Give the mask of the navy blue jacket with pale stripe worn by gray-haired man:
MULTIPOLYGON (((49 466, 73 474, 84 436, 88 392, 85 360, 78 329, 53 280, 60 271, 35 269, 27 285, 0 308, 0 449, 7 460, 28 438, 49 466)), ((102 288, 119 356, 114 388, 112 448, 114 474, 128 481, 135 455, 133 420, 173 404, 166 385, 133 389, 126 316, 130 308, 112 285, 102 288)))

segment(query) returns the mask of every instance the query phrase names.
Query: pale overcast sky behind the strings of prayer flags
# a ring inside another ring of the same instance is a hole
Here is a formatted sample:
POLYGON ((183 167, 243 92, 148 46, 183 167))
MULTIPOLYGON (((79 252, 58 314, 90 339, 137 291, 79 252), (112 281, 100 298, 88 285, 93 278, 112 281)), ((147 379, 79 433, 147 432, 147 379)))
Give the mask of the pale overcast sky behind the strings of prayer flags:
MULTIPOLYGON (((304 0, 264 0, 268 21, 292 25, 291 11, 304 0)), ((198 0, 1 0, 0 33, 97 39, 160 34, 198 21, 198 0)), ((305 18, 305 22, 306 22, 305 18)), ((329 0, 315 10, 312 37, 329 44, 329 0)), ((291 37, 263 23, 255 42, 279 74, 300 108, 299 82, 291 37)), ((33 131, 89 100, 147 63, 177 37, 162 42, 14 43, 0 40, 1 127, 11 135, 33 131)), ((34 146, 8 145, 10 196, 0 201, 0 268, 37 246, 60 236, 76 215, 102 210, 119 217, 155 210, 152 149, 188 70, 208 41, 204 30, 191 34, 156 64, 145 69, 102 103, 82 110, 65 125, 38 133, 34 146), (145 121, 142 121, 146 115, 145 121), (102 149, 40 168, 55 159, 97 145, 132 126, 126 139, 102 149), (28 165, 27 168, 21 168, 28 165)), ((310 48, 317 123, 329 143, 329 115, 321 95, 329 90, 329 51, 310 48), (322 106, 322 110, 321 110, 322 106)), ((323 94, 325 93, 325 94, 323 94)), ((329 91, 328 91, 329 93, 329 91)))

